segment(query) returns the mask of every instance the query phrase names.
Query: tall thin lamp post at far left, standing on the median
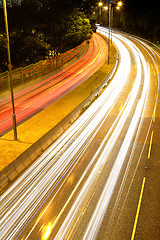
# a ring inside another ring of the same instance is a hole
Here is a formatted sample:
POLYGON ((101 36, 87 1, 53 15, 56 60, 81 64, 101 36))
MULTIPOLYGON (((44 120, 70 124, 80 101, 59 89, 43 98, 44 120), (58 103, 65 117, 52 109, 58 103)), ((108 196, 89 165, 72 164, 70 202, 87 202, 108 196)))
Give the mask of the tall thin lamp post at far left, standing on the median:
POLYGON ((11 102, 12 102, 13 132, 14 132, 14 140, 17 141, 17 124, 16 124, 14 95, 13 95, 13 81, 12 81, 12 70, 11 70, 11 54, 10 54, 10 44, 9 44, 6 0, 3 0, 3 9, 4 9, 4 21, 5 21, 6 37, 7 37, 7 55, 8 55, 8 69, 9 69, 9 84, 10 84, 11 102))

